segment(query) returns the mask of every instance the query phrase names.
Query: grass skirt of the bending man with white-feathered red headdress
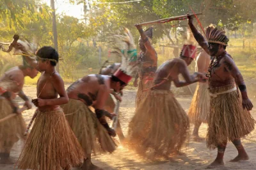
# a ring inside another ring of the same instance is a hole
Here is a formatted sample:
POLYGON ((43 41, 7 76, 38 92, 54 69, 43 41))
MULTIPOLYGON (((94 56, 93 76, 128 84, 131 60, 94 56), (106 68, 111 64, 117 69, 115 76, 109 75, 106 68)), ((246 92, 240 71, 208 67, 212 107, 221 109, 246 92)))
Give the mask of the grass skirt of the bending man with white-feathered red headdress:
POLYGON ((61 107, 87 155, 90 155, 92 151, 94 153, 115 151, 115 142, 87 105, 80 100, 70 98, 68 104, 61 105, 61 107))

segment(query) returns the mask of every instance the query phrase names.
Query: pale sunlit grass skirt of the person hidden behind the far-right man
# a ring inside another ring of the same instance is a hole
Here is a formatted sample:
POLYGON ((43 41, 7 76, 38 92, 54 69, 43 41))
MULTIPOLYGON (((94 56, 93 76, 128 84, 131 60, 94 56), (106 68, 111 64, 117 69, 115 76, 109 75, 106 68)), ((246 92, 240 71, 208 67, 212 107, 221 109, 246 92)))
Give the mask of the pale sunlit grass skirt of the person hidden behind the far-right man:
POLYGON ((191 123, 207 123, 210 110, 210 95, 208 83, 198 82, 194 97, 188 110, 191 123))

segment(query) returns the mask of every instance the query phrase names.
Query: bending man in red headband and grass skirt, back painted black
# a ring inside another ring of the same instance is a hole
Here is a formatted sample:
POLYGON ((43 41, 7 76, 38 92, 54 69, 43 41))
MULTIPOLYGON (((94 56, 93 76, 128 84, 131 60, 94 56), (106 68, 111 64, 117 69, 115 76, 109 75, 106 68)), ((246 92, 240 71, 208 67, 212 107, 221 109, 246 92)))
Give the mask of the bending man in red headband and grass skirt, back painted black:
POLYGON ((92 151, 113 152, 116 148, 111 136, 116 132, 109 127, 106 116, 115 116, 104 109, 111 89, 119 93, 131 80, 131 76, 118 69, 113 75, 92 74, 71 84, 68 89, 68 104, 61 105, 66 118, 79 143, 84 149, 86 159, 83 169, 99 169, 91 162, 92 151), (95 110, 92 112, 90 106, 95 110), (99 148, 100 144, 100 148, 99 148))

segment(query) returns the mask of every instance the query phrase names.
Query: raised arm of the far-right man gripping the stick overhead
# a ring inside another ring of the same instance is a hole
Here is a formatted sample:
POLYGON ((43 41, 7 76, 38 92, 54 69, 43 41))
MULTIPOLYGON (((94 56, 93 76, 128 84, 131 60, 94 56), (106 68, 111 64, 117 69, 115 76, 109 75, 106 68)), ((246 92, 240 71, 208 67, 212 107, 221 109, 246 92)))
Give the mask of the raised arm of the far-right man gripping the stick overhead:
POLYGON ((188 25, 191 29, 191 32, 193 33, 193 36, 196 39, 196 42, 198 42, 198 44, 205 50, 205 52, 209 54, 207 40, 205 40, 204 36, 200 34, 199 31, 196 29, 196 27, 193 24, 193 17, 189 15, 188 15, 188 25))

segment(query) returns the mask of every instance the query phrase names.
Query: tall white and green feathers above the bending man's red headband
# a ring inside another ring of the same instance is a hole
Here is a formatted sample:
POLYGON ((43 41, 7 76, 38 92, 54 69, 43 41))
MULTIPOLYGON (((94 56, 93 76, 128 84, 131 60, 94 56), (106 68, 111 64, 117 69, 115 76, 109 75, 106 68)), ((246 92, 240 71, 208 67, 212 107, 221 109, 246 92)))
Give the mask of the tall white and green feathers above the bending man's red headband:
POLYGON ((111 35, 110 56, 121 59, 120 70, 134 77, 138 72, 137 49, 129 29, 123 35, 111 35))

